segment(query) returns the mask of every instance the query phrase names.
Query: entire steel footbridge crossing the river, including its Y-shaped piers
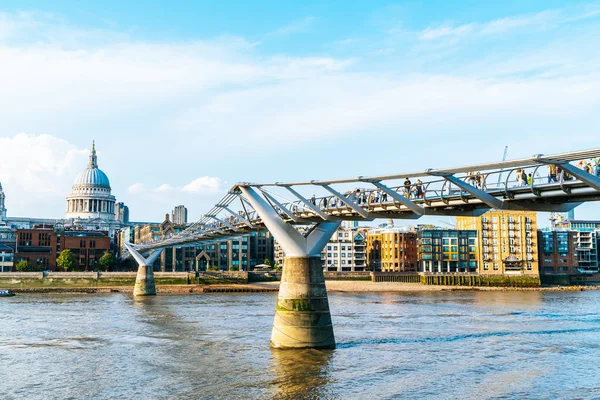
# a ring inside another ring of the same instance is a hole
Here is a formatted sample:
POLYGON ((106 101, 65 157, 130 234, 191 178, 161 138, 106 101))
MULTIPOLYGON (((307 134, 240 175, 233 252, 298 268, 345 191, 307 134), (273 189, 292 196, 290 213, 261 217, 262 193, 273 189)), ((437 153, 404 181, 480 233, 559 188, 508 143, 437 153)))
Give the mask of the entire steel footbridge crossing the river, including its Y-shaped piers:
POLYGON ((479 216, 489 209, 567 212, 600 200, 600 148, 351 179, 233 185, 198 221, 163 240, 126 244, 140 268, 135 295, 156 294, 152 262, 167 247, 268 229, 285 252, 271 345, 334 348, 320 253, 341 221, 479 216), (588 170, 589 171, 589 170, 588 170), (523 172, 530 179, 521 179, 523 172), (410 181, 410 182, 408 182, 410 181), (306 225, 300 233, 296 226, 306 225), (143 253, 150 252, 146 258, 143 253))

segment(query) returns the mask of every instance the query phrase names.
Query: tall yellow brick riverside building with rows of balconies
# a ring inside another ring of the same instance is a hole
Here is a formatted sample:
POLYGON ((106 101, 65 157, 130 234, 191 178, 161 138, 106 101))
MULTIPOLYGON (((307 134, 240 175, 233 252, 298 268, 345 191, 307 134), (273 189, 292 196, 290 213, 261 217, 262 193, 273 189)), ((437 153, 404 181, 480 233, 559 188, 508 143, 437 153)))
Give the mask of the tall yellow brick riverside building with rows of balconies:
POLYGON ((482 275, 539 275, 536 213, 492 210, 481 217, 456 217, 457 229, 474 229, 482 275))

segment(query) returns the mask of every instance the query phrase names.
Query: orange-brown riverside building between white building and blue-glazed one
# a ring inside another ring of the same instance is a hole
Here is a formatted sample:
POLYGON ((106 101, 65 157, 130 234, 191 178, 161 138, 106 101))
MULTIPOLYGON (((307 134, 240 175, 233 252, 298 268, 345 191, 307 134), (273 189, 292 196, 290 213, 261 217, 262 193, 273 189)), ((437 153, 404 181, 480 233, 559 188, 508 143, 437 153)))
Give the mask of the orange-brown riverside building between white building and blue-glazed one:
POLYGON ((393 227, 370 230, 367 265, 372 271, 417 272, 417 233, 393 227))

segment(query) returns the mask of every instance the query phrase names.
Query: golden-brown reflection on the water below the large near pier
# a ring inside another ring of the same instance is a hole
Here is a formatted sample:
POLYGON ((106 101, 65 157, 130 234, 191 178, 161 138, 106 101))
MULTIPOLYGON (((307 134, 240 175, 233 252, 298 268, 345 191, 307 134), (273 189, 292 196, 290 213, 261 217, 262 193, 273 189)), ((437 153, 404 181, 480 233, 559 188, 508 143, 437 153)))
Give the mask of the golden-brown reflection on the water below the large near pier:
POLYGON ((272 349, 275 397, 284 399, 327 398, 328 366, 332 350, 272 349))

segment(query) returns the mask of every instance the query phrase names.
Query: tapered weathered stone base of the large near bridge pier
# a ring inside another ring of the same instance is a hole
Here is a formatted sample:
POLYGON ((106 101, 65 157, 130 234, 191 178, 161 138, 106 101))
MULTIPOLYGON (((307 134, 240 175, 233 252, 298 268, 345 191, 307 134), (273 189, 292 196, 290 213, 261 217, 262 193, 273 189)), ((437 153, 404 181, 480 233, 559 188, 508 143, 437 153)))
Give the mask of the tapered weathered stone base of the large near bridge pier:
POLYGON ((285 258, 271 347, 335 348, 321 257, 285 258))

